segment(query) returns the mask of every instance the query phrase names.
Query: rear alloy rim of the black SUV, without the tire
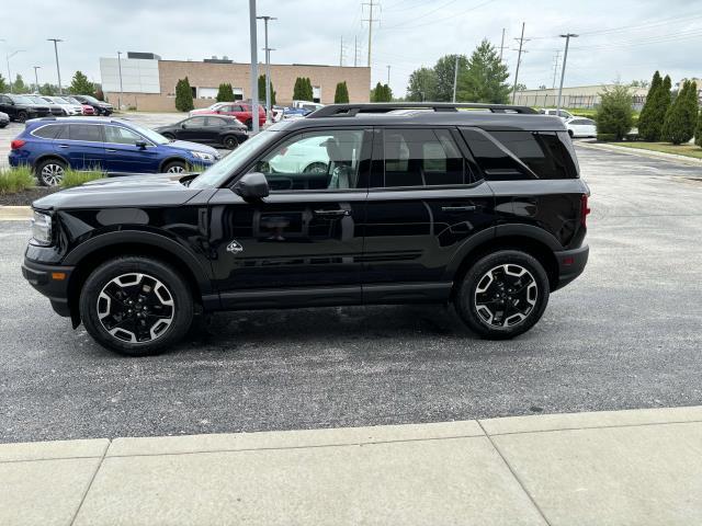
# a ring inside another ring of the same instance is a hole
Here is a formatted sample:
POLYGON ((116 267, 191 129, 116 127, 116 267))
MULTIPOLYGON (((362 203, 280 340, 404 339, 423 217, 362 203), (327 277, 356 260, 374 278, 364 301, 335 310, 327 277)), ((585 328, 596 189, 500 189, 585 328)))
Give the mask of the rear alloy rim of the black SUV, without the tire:
POLYGON ((539 287, 521 265, 507 263, 487 271, 478 279, 473 298, 480 320, 490 327, 513 327, 534 310, 539 287))

